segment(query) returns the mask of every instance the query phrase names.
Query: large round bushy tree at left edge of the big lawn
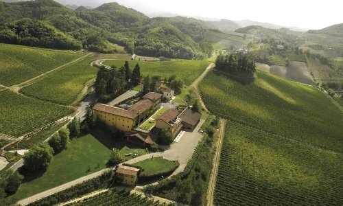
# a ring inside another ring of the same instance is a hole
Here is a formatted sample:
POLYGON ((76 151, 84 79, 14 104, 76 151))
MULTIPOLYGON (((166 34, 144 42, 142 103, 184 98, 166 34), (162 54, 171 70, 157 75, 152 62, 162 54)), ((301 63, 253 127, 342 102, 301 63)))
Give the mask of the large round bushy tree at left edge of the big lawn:
POLYGON ((23 156, 24 168, 31 172, 46 170, 52 159, 53 149, 46 142, 36 144, 23 156))

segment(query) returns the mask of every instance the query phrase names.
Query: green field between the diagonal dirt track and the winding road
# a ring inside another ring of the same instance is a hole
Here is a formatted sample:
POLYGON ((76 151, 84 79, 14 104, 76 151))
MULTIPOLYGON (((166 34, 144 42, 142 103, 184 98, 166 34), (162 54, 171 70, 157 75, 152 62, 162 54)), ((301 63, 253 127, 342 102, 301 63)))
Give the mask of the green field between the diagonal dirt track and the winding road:
POLYGON ((91 67, 94 58, 85 58, 69 67, 52 73, 34 84, 21 89, 22 93, 58 104, 72 104, 84 89, 86 82, 96 77, 97 69, 91 67))

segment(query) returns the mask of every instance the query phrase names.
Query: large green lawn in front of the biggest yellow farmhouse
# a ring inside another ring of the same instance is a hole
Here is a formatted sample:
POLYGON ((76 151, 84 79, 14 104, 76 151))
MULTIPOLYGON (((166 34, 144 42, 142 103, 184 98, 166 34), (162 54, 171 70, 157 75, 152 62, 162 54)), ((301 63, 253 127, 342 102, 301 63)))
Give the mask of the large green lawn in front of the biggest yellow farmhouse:
MULTIPOLYGON (((146 154, 145 149, 139 146, 114 141, 106 133, 97 130, 93 135, 88 134, 73 139, 67 150, 54 156, 49 168, 43 174, 23 172, 25 179, 18 192, 10 198, 20 200, 102 170, 106 167, 113 147, 119 148, 123 157, 127 153, 133 153, 134 150, 138 150, 139 155, 146 154), (91 170, 88 171, 88 168, 91 170)), ((125 157, 125 159, 130 158, 125 157)))

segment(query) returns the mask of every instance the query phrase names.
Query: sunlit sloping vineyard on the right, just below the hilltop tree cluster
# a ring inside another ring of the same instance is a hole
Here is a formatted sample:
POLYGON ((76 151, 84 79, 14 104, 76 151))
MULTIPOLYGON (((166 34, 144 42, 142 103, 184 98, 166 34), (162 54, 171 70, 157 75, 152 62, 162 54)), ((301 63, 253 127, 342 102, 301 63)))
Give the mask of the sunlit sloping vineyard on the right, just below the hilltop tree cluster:
POLYGON ((318 148, 343 152, 342 111, 321 91, 257 71, 242 85, 217 71, 200 83, 211 113, 318 148))

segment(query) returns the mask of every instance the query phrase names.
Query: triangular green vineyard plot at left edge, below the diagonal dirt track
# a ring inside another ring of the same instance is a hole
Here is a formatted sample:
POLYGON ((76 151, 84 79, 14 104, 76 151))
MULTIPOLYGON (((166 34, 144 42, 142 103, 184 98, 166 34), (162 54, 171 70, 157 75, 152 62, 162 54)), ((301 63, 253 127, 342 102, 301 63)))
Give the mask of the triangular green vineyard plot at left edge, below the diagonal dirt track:
POLYGON ((72 108, 0 92, 0 133, 17 137, 73 113, 72 108))

